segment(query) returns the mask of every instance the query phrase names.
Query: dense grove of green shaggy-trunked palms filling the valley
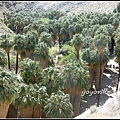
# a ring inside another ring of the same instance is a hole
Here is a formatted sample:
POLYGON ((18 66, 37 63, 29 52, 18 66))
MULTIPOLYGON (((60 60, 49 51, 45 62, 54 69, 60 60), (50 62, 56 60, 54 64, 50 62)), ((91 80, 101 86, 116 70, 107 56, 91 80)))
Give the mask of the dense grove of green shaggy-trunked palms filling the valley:
POLYGON ((79 115, 82 92, 94 81, 100 90, 112 53, 120 64, 119 6, 112 13, 3 12, 11 32, 0 36, 0 118, 79 115))

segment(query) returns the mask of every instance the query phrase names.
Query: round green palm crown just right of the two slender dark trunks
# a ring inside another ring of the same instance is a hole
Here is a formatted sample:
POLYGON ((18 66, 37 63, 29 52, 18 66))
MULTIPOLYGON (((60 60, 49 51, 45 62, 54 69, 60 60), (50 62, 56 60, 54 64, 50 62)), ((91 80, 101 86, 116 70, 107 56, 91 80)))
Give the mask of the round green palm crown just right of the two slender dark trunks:
POLYGON ((42 75, 39 64, 29 58, 23 59, 20 63, 20 75, 26 84, 35 84, 41 81, 42 75))

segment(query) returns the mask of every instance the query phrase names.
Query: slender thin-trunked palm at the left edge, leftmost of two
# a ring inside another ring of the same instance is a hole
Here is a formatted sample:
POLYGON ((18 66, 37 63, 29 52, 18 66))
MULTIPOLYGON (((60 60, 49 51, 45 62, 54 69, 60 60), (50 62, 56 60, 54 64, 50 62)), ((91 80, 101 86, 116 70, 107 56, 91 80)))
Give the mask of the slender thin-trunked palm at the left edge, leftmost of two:
POLYGON ((13 46, 13 41, 12 41, 12 37, 11 34, 3 34, 0 36, 2 41, 0 44, 0 47, 3 48, 5 50, 5 52, 7 53, 7 57, 8 57, 8 69, 11 70, 10 68, 10 49, 13 46))

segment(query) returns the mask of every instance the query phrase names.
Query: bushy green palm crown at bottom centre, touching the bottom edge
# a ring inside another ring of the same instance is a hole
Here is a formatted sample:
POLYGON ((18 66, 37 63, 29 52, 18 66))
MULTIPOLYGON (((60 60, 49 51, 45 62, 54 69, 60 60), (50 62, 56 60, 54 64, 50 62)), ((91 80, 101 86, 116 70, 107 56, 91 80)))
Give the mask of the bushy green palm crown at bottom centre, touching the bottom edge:
POLYGON ((52 93, 47 99, 44 111, 48 118, 71 118, 73 107, 69 95, 60 90, 56 94, 52 93))

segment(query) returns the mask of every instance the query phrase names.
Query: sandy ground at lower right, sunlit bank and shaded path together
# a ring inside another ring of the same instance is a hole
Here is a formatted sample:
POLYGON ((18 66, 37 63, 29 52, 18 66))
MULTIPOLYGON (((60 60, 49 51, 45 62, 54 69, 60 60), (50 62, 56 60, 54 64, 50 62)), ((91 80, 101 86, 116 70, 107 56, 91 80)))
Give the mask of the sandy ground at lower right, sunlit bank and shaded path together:
MULTIPOLYGON (((111 57, 107 63, 101 84, 100 106, 97 107, 97 94, 95 91, 85 95, 85 100, 81 101, 79 118, 120 118, 120 92, 116 93, 116 86, 112 86, 112 81, 118 80, 118 64, 111 57)), ((120 85, 120 84, 119 84, 120 85)))

